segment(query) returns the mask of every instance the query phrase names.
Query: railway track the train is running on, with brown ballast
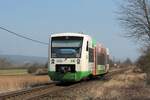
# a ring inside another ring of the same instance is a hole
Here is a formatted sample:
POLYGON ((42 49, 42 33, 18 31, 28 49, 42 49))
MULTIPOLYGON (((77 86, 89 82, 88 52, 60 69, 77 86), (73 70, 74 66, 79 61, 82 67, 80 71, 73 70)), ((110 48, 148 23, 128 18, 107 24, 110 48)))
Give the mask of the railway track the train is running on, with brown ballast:
MULTIPOLYGON (((104 78, 106 80, 109 80, 111 79, 111 76, 119 73, 123 73, 128 69, 129 68, 124 68, 124 69, 117 69, 117 70, 110 71, 108 74, 105 75, 104 78)), ((39 87, 0 94, 0 100, 42 100, 42 98, 50 97, 49 94, 51 93, 57 93, 64 89, 66 90, 70 88, 75 88, 77 86, 84 85, 86 82, 87 81, 82 81, 68 86, 56 85, 56 83, 49 83, 47 85, 43 85, 39 87)))

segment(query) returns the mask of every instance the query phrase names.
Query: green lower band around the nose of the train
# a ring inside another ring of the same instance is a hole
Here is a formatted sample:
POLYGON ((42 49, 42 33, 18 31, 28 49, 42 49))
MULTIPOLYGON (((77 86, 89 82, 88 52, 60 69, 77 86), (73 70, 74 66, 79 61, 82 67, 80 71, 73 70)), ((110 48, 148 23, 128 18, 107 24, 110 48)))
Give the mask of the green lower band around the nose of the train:
POLYGON ((91 74, 90 71, 79 71, 75 73, 60 73, 60 72, 48 72, 49 76, 54 81, 80 81, 81 79, 89 76, 91 74))

